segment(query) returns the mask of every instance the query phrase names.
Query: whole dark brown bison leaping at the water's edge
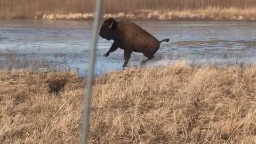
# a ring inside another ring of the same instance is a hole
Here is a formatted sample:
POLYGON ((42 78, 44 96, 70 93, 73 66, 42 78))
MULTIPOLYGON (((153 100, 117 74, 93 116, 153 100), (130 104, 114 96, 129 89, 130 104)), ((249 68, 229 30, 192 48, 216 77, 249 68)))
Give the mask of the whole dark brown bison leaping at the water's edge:
POLYGON ((117 22, 113 18, 108 18, 102 23, 99 35, 108 41, 114 40, 104 57, 108 57, 118 47, 124 50, 123 68, 127 66, 132 52, 143 53, 147 59, 143 60, 142 63, 146 63, 154 58, 154 54, 162 42, 169 42, 169 38, 158 41, 153 35, 131 21, 117 22))

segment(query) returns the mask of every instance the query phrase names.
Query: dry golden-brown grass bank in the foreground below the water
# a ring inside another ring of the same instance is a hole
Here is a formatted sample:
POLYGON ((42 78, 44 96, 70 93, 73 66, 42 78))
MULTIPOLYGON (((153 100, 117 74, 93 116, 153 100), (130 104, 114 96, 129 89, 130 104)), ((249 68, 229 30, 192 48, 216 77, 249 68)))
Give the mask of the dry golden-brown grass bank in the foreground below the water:
MULTIPOLYGON (((0 74, 0 143, 79 143, 85 82, 74 71, 0 74)), ((109 73, 94 83, 89 141, 255 143, 255 88, 255 66, 109 73)))

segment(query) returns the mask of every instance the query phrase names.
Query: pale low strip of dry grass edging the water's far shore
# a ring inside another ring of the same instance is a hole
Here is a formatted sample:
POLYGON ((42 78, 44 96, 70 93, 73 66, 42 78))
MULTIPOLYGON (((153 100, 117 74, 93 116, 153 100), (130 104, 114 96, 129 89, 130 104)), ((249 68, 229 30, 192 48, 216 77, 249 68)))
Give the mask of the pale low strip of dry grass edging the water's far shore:
MULTIPOLYGON (((121 12, 117 14, 103 14, 103 18, 115 19, 130 19, 130 20, 172 20, 172 21, 188 21, 188 20, 207 20, 207 21, 255 21, 256 8, 236 9, 228 8, 221 9, 219 7, 209 7, 199 10, 139 10, 134 12, 121 12)), ((68 13, 68 14, 44 14, 42 19, 47 20, 91 20, 93 13, 68 13)))

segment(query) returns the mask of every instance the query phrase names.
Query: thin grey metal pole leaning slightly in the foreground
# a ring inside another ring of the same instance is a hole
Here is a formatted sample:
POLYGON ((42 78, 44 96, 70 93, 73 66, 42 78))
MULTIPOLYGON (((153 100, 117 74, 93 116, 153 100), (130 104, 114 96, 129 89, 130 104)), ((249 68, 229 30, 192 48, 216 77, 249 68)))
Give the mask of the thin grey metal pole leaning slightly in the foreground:
POLYGON ((94 23, 93 23, 93 32, 92 32, 92 45, 91 45, 91 53, 90 53, 90 61, 89 61, 89 70, 87 76, 87 83, 84 95, 84 109, 83 109, 83 126, 82 126, 82 134, 81 134, 81 143, 87 143, 88 130, 89 130, 89 119, 90 119, 90 102, 91 102, 91 91, 92 91, 92 83, 94 79, 94 63, 95 63, 95 54, 96 54, 96 45, 98 43, 98 29, 101 17, 101 4, 102 0, 97 0, 95 7, 95 15, 94 15, 94 23))

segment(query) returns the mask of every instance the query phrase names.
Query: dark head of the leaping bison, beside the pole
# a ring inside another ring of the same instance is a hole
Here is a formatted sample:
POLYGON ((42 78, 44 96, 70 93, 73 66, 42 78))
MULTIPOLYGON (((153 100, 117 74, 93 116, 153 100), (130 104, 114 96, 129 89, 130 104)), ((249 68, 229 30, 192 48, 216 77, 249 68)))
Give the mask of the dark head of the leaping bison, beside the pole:
POLYGON ((115 29, 117 28, 117 21, 113 18, 108 18, 103 21, 102 26, 100 27, 100 37, 110 41, 115 37, 115 29))

